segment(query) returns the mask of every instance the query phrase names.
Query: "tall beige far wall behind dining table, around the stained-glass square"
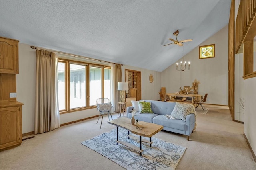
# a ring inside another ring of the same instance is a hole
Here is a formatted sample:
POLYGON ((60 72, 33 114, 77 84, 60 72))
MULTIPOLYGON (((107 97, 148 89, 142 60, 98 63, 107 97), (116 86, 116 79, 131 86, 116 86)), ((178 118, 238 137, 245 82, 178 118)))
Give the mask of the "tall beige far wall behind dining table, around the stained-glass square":
MULTIPOLYGON (((197 47, 184 56, 184 61, 191 63, 189 71, 176 71, 174 63, 162 72, 161 86, 166 87, 166 92, 174 93, 180 91, 180 87, 191 87, 192 82, 197 79, 200 81, 198 94, 208 93, 206 103, 228 105, 228 25, 199 46, 209 44, 215 44, 214 58, 199 59, 197 47)), ((177 45, 176 48, 182 47, 177 45)))

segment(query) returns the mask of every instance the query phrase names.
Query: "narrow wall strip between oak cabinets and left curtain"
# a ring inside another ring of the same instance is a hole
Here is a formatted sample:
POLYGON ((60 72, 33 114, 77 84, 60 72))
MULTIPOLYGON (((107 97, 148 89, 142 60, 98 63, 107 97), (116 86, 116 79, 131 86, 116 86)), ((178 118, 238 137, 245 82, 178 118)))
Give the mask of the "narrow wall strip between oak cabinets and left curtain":
POLYGON ((19 74, 16 75, 17 101, 22 102, 22 133, 34 131, 36 100, 36 51, 19 43, 19 74))

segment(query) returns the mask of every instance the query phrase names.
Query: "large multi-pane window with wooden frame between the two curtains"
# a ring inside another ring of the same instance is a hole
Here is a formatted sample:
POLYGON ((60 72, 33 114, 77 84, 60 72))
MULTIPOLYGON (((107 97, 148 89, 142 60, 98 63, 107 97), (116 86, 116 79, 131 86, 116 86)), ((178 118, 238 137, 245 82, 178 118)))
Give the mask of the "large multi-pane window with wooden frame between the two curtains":
POLYGON ((98 98, 110 98, 110 75, 111 69, 108 66, 59 59, 58 98, 60 113, 95 107, 98 98))

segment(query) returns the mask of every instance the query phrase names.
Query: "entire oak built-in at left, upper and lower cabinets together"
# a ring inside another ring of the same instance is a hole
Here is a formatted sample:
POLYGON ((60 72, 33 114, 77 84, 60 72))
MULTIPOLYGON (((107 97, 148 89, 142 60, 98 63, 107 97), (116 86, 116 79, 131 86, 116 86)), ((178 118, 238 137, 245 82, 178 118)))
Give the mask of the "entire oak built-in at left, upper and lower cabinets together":
POLYGON ((22 103, 10 98, 16 93, 19 73, 18 40, 0 37, 0 150, 22 143, 22 103))

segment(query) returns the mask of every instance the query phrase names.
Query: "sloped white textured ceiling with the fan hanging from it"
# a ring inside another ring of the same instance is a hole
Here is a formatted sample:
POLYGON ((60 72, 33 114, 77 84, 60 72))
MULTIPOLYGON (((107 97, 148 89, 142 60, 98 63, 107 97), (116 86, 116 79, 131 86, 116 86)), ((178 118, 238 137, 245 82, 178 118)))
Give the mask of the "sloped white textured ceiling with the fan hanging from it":
POLYGON ((230 0, 0 1, 0 34, 20 43, 163 71, 228 24, 230 0))

